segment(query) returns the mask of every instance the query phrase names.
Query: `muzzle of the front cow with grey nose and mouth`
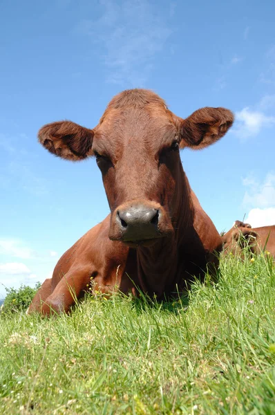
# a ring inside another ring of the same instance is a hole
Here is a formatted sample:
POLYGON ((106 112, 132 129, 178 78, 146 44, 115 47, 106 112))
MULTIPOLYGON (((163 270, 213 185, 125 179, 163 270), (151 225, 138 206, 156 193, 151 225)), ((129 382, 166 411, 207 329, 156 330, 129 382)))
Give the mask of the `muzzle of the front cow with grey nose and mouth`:
POLYGON ((167 214, 158 203, 125 203, 112 214, 109 238, 128 246, 149 246, 167 234, 167 214))

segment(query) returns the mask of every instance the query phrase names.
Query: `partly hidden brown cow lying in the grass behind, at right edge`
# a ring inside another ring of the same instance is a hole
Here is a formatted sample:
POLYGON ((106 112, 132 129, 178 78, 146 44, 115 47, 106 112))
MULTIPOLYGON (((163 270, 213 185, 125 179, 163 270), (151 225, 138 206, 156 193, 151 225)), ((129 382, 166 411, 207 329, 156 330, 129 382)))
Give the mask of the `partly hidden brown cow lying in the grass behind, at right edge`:
POLYGON ((252 228, 249 225, 236 221, 235 225, 222 236, 223 252, 232 252, 243 257, 243 248, 249 246, 250 252, 260 253, 262 250, 269 252, 275 258, 275 225, 252 228), (240 223, 240 226, 236 225, 240 223))

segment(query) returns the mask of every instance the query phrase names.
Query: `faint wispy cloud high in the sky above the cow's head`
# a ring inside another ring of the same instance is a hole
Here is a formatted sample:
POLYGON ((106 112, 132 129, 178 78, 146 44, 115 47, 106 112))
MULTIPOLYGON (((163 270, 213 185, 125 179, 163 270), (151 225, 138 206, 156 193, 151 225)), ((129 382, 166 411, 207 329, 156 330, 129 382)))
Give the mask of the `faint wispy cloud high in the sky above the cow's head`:
POLYGON ((82 21, 78 30, 102 49, 108 82, 142 86, 151 73, 155 56, 171 34, 168 19, 175 12, 175 4, 167 6, 164 19, 147 0, 99 3, 101 17, 82 21))

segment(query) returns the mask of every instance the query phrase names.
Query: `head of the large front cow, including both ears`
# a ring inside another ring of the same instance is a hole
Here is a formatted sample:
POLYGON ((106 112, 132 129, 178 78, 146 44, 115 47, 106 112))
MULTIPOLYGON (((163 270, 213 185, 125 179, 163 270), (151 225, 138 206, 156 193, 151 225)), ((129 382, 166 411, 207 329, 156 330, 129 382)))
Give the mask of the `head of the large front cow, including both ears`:
POLYGON ((133 89, 111 100, 94 129, 53 122, 40 129, 39 140, 61 158, 95 156, 111 208, 110 239, 149 245, 174 230, 186 183, 180 149, 211 145, 233 120, 228 109, 210 107, 182 119, 155 93, 133 89))

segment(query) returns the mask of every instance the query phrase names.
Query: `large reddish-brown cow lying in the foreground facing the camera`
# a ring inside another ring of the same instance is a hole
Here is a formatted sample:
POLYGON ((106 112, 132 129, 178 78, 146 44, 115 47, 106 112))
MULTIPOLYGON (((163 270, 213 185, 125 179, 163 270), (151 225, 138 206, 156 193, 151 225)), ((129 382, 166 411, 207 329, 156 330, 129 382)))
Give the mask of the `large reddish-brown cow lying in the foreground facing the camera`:
POLYGON ((208 147, 233 120, 228 109, 211 107, 182 119, 155 93, 133 89, 111 100, 95 129, 70 121, 42 127, 39 141, 51 153, 95 156, 111 214, 59 259, 30 311, 67 312, 91 277, 102 293, 138 287, 158 299, 203 277, 222 241, 189 186, 179 150, 208 147))

